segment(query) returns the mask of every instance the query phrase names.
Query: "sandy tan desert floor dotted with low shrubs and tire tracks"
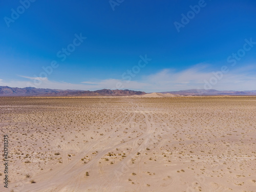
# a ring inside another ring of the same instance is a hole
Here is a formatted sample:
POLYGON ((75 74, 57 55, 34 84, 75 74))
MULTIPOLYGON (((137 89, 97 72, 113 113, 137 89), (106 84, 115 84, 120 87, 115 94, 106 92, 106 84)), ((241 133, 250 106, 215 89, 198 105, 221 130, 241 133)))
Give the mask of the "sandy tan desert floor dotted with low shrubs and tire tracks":
POLYGON ((0 191, 256 191, 256 97, 1 97, 0 191))

